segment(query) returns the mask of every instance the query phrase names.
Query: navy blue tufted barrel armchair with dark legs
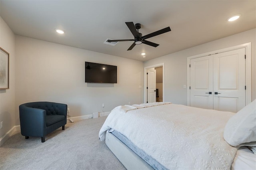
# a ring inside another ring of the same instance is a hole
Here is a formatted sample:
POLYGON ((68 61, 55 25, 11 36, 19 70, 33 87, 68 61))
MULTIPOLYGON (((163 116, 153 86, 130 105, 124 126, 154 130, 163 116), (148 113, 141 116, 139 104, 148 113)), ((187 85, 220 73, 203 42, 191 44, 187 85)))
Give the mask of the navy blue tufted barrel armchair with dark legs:
POLYGON ((20 105, 20 131, 26 139, 29 136, 41 137, 45 141, 46 134, 67 123, 66 104, 53 102, 32 102, 20 105))

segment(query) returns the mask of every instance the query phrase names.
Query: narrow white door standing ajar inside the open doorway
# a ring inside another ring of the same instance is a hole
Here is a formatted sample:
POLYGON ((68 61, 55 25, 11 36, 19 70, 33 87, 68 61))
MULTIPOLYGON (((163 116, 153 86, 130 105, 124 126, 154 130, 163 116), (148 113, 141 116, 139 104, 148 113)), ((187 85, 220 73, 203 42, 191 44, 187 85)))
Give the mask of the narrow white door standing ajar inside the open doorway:
POLYGON ((156 102, 156 70, 148 69, 148 103, 156 102))

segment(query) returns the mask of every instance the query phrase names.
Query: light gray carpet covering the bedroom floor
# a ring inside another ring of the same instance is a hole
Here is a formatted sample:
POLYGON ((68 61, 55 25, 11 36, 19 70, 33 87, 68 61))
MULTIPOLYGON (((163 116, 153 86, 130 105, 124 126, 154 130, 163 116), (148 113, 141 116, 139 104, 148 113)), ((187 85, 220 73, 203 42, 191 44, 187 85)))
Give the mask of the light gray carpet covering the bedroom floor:
POLYGON ((0 147, 1 170, 125 170, 124 166, 98 140, 106 117, 68 123, 46 136, 25 139, 20 133, 0 147))

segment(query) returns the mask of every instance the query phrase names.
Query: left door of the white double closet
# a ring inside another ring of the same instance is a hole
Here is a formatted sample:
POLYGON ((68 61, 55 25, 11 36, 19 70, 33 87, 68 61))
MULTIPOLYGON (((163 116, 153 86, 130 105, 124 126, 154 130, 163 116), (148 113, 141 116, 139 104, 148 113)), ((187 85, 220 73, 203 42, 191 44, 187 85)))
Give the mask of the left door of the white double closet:
POLYGON ((212 56, 190 60, 190 106, 213 109, 212 56))

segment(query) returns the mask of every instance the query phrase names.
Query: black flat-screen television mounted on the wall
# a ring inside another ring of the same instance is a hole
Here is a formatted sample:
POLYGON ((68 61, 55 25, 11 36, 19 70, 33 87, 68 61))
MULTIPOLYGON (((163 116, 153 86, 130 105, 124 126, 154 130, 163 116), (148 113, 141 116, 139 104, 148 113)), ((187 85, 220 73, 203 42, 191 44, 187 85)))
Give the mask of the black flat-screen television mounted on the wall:
POLYGON ((117 66, 85 61, 86 83, 117 83, 117 66))

